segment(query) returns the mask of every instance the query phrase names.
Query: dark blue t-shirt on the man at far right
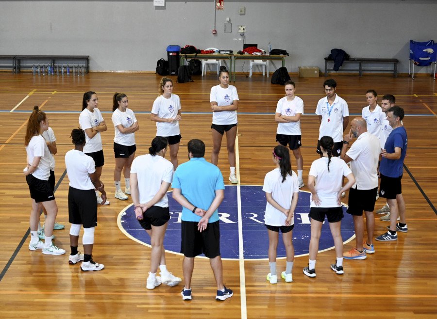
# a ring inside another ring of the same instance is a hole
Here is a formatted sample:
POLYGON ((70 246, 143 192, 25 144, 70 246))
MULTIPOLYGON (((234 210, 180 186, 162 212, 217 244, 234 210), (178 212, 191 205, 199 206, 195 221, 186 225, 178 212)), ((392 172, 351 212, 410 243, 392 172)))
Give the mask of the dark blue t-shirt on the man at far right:
POLYGON ((400 147, 401 158, 400 159, 387 159, 383 157, 379 165, 379 171, 382 175, 388 177, 399 177, 403 175, 403 159, 405 159, 407 149, 407 135, 403 126, 395 128, 390 132, 387 137, 384 148, 387 153, 394 153, 395 147, 400 147))

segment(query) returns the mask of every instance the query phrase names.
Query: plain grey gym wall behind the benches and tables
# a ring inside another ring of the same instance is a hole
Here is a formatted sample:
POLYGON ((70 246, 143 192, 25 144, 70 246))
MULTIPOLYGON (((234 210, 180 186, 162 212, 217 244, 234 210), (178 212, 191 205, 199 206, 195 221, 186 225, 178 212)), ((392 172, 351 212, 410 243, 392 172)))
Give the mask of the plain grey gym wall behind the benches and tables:
POLYGON ((165 7, 152 0, 0 1, 0 54, 89 55, 92 70, 151 71, 169 44, 237 51, 237 25, 246 25, 246 43, 266 48, 271 41, 288 51, 289 72, 322 70, 330 49, 343 48, 351 57, 398 58, 406 73, 409 40, 437 40, 436 13, 432 0, 224 0, 223 11, 214 0, 166 0, 165 7), (231 33, 224 33, 226 17, 231 33))

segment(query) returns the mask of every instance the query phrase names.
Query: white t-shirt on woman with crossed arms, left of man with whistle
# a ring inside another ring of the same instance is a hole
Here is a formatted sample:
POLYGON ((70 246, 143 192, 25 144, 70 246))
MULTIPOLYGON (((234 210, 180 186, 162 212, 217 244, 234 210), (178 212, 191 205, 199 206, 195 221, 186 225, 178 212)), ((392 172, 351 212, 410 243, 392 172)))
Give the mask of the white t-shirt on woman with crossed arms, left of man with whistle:
MULTIPOLYGON (((299 96, 294 96, 292 101, 288 101, 284 96, 278 101, 276 106, 276 113, 280 113, 285 116, 296 116, 297 113, 303 114, 303 100, 299 96)), ((301 135, 301 121, 278 123, 278 134, 285 135, 301 135)))

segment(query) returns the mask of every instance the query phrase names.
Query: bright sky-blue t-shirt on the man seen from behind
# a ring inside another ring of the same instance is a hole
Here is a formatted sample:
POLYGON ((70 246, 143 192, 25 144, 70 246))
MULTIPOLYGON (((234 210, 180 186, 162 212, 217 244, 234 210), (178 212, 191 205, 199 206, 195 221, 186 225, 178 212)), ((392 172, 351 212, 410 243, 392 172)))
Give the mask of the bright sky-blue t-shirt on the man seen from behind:
MULTIPOLYGON (((182 195, 194 206, 208 210, 217 190, 224 190, 223 175, 219 168, 204 158, 192 158, 178 166, 173 175, 172 188, 181 190, 182 195)), ((199 222, 202 217, 182 207, 182 220, 199 222)), ((208 223, 218 221, 218 210, 211 215, 208 223)))

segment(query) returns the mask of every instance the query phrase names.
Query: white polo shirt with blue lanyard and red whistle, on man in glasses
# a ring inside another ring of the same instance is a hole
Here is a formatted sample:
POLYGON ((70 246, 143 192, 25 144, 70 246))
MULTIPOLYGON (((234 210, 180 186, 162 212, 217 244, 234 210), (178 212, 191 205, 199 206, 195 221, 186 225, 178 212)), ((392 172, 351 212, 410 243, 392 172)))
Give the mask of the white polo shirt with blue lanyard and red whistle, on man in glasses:
POLYGON ((349 108, 346 101, 336 95, 334 103, 329 105, 328 97, 325 96, 317 103, 316 114, 322 116, 319 140, 323 136, 331 136, 334 143, 343 141, 343 117, 349 116, 349 108))

